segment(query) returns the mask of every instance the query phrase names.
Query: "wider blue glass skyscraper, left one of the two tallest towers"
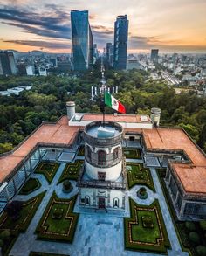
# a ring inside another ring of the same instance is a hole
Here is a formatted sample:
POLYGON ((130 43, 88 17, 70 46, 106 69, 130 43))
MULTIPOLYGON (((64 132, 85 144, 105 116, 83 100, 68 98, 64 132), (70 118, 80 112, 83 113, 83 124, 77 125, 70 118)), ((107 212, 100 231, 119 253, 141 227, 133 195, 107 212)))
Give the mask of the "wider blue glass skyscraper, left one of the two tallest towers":
POLYGON ((72 10, 72 69, 84 71, 93 66, 93 33, 88 20, 88 10, 72 10))

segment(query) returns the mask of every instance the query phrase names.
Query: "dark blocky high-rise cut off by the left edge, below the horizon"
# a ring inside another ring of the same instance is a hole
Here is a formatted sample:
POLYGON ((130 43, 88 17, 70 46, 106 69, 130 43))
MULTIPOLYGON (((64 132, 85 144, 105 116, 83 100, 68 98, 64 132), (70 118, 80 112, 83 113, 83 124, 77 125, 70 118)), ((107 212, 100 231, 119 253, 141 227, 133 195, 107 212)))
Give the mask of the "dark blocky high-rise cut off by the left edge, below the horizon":
POLYGON ((17 66, 13 52, 0 52, 0 75, 17 74, 17 66))

